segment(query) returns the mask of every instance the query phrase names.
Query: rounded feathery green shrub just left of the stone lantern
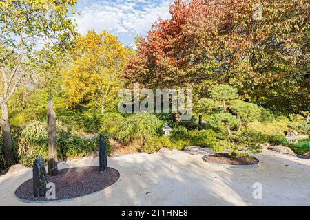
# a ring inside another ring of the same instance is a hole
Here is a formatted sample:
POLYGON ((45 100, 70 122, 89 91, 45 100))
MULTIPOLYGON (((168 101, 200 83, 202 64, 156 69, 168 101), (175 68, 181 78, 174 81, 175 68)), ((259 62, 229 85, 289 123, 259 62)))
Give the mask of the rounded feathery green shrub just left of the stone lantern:
POLYGON ((147 138, 161 135, 164 124, 150 113, 134 113, 119 124, 116 138, 123 144, 137 140, 144 143, 147 138))

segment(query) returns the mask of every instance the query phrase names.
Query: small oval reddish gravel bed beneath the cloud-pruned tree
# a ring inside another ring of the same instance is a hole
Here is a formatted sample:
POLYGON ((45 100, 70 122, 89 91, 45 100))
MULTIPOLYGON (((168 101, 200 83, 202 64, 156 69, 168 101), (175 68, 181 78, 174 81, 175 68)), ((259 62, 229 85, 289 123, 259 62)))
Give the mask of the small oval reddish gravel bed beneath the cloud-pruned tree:
POLYGON ((203 157, 205 162, 216 163, 216 164, 229 164, 229 165, 253 165, 260 162, 255 157, 229 157, 227 153, 216 153, 212 155, 206 155, 203 157))

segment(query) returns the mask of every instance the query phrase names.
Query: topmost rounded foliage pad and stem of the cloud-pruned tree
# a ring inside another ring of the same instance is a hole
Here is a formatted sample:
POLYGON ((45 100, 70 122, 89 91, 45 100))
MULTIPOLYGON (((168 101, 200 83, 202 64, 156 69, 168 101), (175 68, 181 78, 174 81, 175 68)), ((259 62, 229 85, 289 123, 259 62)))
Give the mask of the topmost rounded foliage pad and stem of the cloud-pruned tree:
POLYGON ((226 111, 226 101, 238 98, 238 89, 230 87, 229 85, 221 84, 211 91, 211 98, 223 102, 223 112, 226 111))

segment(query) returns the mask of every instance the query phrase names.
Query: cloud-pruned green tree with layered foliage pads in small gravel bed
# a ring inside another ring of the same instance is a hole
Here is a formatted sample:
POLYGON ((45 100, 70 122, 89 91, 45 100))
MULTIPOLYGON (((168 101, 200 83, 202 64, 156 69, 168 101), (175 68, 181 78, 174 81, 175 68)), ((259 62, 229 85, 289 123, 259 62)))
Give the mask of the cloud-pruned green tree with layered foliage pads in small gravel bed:
POLYGON ((262 109, 256 104, 238 100, 238 90, 228 85, 218 85, 211 91, 211 98, 200 99, 195 107, 197 113, 211 114, 209 126, 222 135, 223 140, 214 144, 216 152, 227 150, 229 155, 247 155, 258 153, 252 137, 242 132, 242 125, 262 118, 262 109), (225 101, 229 100, 231 113, 226 111, 225 101), (223 112, 216 113, 218 102, 223 101, 223 112), (214 113, 215 112, 215 113, 214 113))

